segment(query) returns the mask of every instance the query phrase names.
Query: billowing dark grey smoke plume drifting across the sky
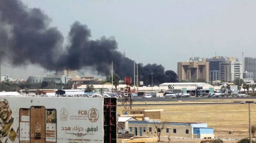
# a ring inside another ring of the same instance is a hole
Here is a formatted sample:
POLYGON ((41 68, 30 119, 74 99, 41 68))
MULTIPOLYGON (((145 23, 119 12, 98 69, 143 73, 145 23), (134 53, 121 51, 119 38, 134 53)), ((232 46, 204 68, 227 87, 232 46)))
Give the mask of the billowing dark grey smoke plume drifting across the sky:
MULTIPOLYGON (((19 0, 0 0, 0 52, 14 66, 38 64, 47 70, 80 70, 90 67, 97 74, 111 75, 113 69, 121 79, 134 75, 134 61, 118 51, 113 37, 90 39, 90 30, 76 21, 71 26, 68 41, 56 27, 49 27, 51 19, 38 8, 28 8, 19 0)), ((176 82, 177 74, 164 71, 162 65, 138 65, 139 80, 144 84, 176 82)))

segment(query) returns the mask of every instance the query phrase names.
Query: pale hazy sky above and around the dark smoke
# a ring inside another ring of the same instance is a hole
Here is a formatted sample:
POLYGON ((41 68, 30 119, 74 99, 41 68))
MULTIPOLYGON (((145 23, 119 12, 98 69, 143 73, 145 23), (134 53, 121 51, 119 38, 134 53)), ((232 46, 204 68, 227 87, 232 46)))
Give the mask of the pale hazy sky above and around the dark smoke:
MULTIPOLYGON (((235 56, 256 52, 256 0, 22 0, 41 8, 67 36, 75 20, 92 39, 114 36, 119 51, 141 62, 177 72, 189 57, 235 56)), ((38 66, 2 65, 2 75, 27 79, 47 74, 38 66)), ((53 72, 50 72, 53 73, 53 72)), ((88 73, 90 74, 90 73, 88 73)))

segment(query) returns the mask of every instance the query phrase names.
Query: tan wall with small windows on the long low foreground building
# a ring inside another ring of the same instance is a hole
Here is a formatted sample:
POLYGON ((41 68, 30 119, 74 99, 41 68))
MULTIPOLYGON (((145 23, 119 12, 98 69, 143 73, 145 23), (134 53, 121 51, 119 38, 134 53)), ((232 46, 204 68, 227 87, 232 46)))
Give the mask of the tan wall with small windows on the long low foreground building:
MULTIPOLYGON (((162 126, 162 123, 159 123, 160 127, 162 126)), ((191 138, 192 137, 192 128, 191 126, 187 125, 179 125, 179 124, 172 124, 172 123, 166 123, 165 129, 162 130, 161 136, 170 136, 170 137, 186 137, 191 138), (174 130, 176 129, 176 133, 174 130), (187 132, 186 132, 187 130, 187 132)), ((157 137, 157 129, 154 125, 154 122, 141 122, 141 121, 129 121, 129 131, 136 135, 135 128, 137 128, 137 136, 140 136, 140 128, 142 130, 142 136, 155 136, 157 137)))

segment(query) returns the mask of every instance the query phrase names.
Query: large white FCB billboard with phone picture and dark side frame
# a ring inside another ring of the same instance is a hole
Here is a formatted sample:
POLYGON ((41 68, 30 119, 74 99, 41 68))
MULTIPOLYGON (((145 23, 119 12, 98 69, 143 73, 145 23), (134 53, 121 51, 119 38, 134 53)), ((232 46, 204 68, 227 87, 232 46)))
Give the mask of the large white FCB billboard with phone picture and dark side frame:
POLYGON ((116 143, 116 98, 0 96, 0 143, 116 143))

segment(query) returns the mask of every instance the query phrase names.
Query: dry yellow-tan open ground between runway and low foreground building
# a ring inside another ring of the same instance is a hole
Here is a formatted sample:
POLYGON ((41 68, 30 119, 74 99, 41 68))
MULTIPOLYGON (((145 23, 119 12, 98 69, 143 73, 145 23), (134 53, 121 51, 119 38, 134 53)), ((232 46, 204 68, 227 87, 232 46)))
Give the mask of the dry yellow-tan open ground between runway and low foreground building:
MULTIPOLYGON (((214 128, 215 137, 224 140, 224 143, 237 143, 237 140, 249 137, 248 104, 203 104, 203 105, 172 105, 172 106, 145 106, 133 109, 163 109, 162 121, 207 123, 214 128), (228 134, 232 131, 233 134, 228 134)), ((122 114, 122 107, 117 112, 122 114)), ((251 125, 256 125, 256 104, 251 104, 251 125)), ((162 137, 163 143, 168 143, 162 137)), ((171 143, 200 143, 198 139, 175 139, 171 143)), ((159 142, 158 142, 159 143, 159 142)))

